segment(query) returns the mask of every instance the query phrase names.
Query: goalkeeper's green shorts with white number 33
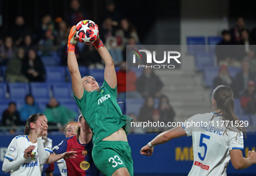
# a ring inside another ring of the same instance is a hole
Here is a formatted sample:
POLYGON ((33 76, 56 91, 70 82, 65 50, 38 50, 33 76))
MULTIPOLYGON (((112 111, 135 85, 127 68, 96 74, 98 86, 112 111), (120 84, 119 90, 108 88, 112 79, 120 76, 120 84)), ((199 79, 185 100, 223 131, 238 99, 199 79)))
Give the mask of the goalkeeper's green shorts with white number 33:
POLYGON ((125 141, 100 141, 92 149, 94 164, 104 176, 111 176, 122 167, 126 167, 133 176, 131 154, 131 148, 125 141))

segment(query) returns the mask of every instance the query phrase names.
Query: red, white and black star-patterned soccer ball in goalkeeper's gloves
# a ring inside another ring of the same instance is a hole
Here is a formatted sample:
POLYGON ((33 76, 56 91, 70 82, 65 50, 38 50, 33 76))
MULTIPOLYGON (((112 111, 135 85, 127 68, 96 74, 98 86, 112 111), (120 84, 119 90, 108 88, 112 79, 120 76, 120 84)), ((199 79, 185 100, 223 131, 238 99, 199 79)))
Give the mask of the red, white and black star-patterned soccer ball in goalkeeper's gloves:
POLYGON ((76 25, 76 31, 76 38, 79 42, 84 44, 94 42, 99 35, 97 24, 91 20, 78 22, 76 25))

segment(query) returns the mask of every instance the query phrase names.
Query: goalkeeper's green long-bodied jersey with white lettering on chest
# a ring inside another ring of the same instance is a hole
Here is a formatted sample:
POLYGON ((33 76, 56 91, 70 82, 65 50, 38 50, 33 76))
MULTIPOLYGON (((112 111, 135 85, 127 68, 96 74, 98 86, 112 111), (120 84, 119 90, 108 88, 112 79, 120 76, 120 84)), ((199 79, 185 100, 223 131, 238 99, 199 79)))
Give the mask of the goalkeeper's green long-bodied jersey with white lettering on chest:
POLYGON ((122 127, 128 134, 132 118, 122 115, 117 104, 117 86, 113 89, 104 80, 100 92, 84 90, 83 97, 75 96, 75 101, 93 132, 94 145, 122 127))

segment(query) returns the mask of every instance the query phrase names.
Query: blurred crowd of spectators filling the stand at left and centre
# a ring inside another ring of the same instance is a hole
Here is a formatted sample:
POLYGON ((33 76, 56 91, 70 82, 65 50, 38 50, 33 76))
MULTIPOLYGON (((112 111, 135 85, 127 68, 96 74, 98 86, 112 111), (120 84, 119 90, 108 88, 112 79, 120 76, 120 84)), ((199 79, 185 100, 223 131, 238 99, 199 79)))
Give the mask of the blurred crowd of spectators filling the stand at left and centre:
MULTIPOLYGON (((136 27, 130 19, 122 17, 113 1, 107 1, 103 14, 102 23, 98 23, 100 38, 115 65, 120 68, 117 71, 117 98, 123 101, 126 97, 145 99, 138 117, 131 114, 135 121, 148 119, 152 122, 173 122, 175 112, 168 97, 161 94, 164 85, 160 78, 151 68, 145 69, 137 78, 134 71, 129 69, 131 63, 126 64, 126 45, 140 45, 136 27), (155 99, 159 99, 159 106, 152 109, 155 99), (147 112, 146 119, 143 117, 144 112, 147 112)), ((81 9, 78 0, 70 1, 70 11, 62 18, 52 19, 52 16, 45 14, 36 30, 26 26, 23 16, 17 16, 13 27, 4 38, 0 38, 0 66, 6 67, 4 80, 8 83, 45 82, 45 65, 41 60, 44 56, 57 54, 61 57, 59 65, 67 66, 66 49, 71 26, 84 19, 91 19, 91 16, 81 9)), ((104 63, 92 44, 84 45, 78 42, 75 54, 79 66, 104 68, 104 63)), ((2 114, 2 125, 13 127, 9 130, 11 134, 15 132, 16 126, 24 125, 33 113, 44 113, 49 125, 63 125, 68 119, 77 118, 76 112, 61 106, 54 97, 49 99, 44 111, 34 101, 33 95, 27 95, 25 99, 26 103, 21 109, 16 108, 15 102, 10 102, 8 109, 2 114)))

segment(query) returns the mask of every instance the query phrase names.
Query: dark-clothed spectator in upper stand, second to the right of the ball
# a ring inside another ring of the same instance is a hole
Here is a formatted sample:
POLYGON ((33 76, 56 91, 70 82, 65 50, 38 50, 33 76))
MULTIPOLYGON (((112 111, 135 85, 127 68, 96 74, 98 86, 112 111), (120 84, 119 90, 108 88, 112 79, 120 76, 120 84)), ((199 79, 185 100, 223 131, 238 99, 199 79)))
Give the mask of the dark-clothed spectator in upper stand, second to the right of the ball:
POLYGON ((125 45, 128 43, 129 38, 134 38, 135 42, 139 43, 136 29, 128 19, 121 19, 120 29, 117 30, 115 36, 117 38, 117 45, 120 46, 122 50, 125 49, 125 45))

